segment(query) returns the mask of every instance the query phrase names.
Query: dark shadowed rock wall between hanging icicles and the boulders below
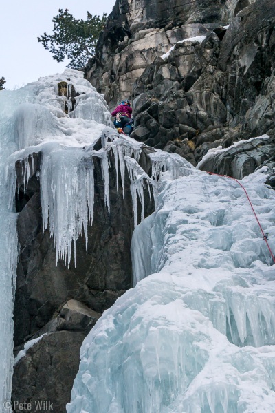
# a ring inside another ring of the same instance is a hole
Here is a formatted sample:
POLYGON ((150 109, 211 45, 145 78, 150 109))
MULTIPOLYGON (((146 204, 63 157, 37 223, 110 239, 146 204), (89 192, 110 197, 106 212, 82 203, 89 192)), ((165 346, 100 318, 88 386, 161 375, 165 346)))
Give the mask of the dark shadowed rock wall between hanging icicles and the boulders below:
MULTIPOLYGON (((30 187, 39 181, 36 171, 30 187)), ((22 176, 22 175, 21 175, 22 176)), ((62 260, 56 265, 56 250, 50 233, 42 233, 39 192, 34 193, 18 219, 21 254, 17 274, 17 299, 14 307, 14 342, 25 341, 42 328, 68 299, 78 299, 100 313, 131 286, 131 255, 128 251, 133 231, 131 193, 116 193, 115 167, 110 182, 111 213, 104 207, 100 162, 95 169, 95 219, 88 235, 79 240, 77 262, 69 268, 62 260), (115 217, 115 220, 114 220, 115 217)), ((22 187, 21 187, 22 188, 22 187)), ((33 188, 32 188, 33 190, 33 188)))

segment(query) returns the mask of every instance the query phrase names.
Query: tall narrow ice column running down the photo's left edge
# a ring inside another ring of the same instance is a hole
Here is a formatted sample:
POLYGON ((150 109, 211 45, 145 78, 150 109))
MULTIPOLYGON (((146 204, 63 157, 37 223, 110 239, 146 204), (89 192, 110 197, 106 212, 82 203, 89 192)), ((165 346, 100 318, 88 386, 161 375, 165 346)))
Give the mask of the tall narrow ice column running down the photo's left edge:
MULTIPOLYGON (((19 92, 0 93, 0 412, 10 400, 13 371, 13 303, 17 268, 17 214, 8 209, 8 187, 5 184, 5 162, 17 149, 10 130, 11 107, 22 96, 19 92)), ((8 410, 5 410, 8 412, 8 410)), ((10 412, 9 412, 10 413, 10 412)))

